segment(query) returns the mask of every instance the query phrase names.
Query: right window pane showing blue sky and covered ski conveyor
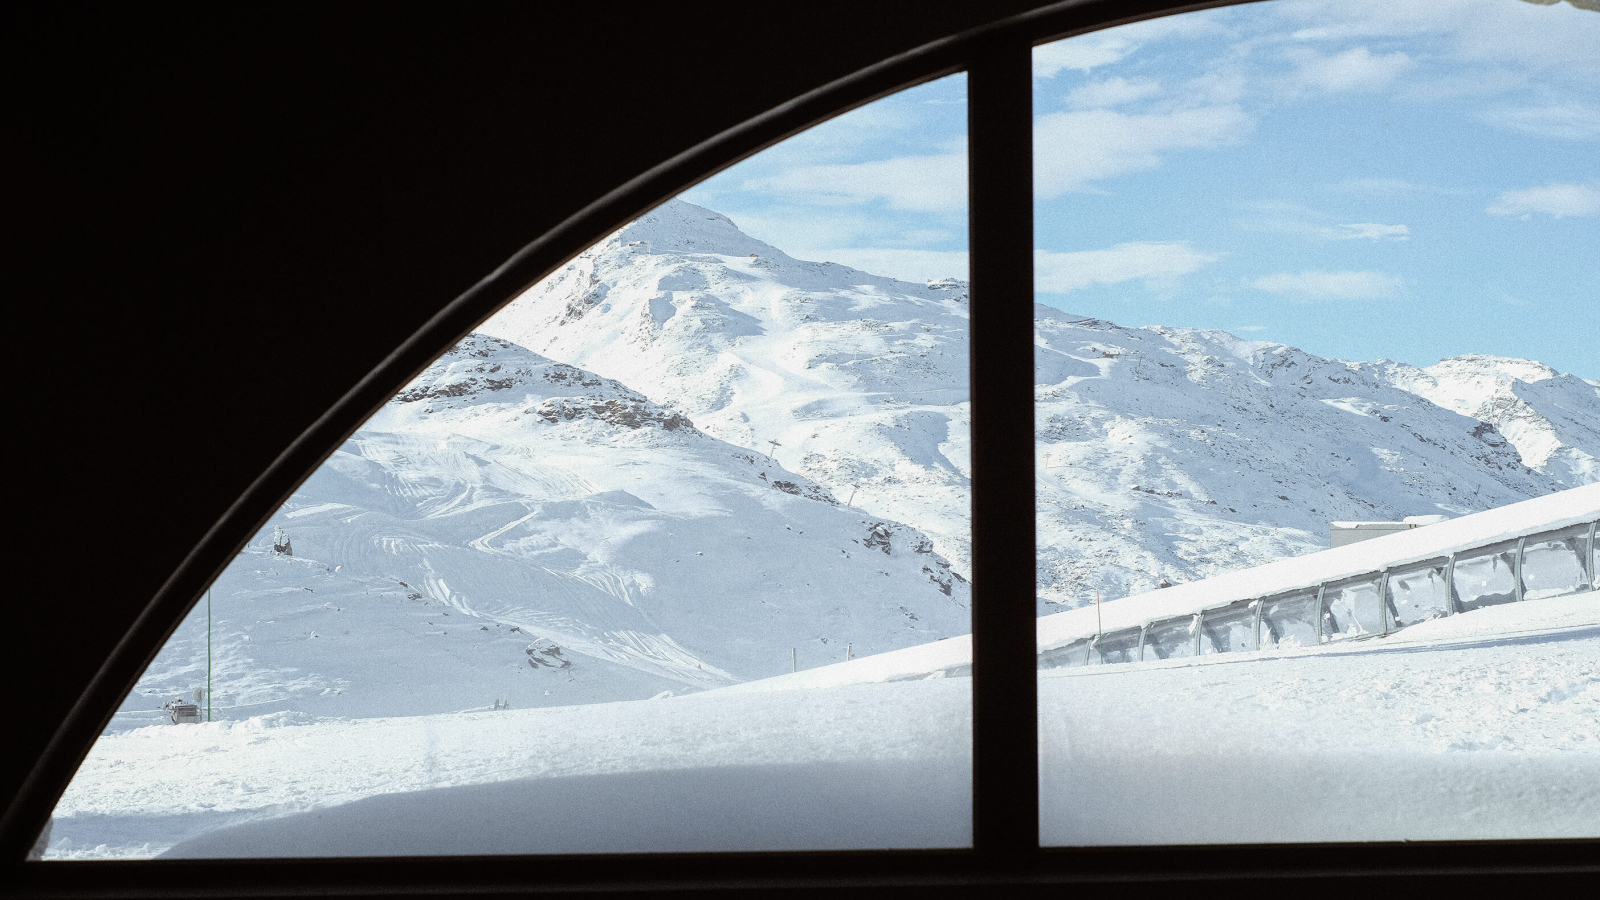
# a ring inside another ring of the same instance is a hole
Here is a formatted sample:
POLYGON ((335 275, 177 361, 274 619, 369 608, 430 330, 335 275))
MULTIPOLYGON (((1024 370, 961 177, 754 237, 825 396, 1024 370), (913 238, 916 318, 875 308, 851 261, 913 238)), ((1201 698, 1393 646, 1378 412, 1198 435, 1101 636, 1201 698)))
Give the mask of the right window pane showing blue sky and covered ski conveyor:
POLYGON ((1595 58, 1517 0, 1035 48, 1046 846, 1600 834, 1595 58))

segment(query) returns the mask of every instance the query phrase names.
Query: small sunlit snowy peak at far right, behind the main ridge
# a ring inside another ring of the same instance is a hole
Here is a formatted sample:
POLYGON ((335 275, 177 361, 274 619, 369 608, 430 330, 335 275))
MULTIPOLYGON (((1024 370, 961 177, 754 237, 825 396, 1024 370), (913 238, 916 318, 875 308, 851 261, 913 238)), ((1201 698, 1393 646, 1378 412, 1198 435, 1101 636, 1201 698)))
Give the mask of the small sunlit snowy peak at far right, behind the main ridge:
POLYGON ((1493 424, 1523 463, 1563 485, 1600 480, 1600 383, 1485 354, 1427 368, 1389 360, 1371 368, 1397 388, 1493 424))

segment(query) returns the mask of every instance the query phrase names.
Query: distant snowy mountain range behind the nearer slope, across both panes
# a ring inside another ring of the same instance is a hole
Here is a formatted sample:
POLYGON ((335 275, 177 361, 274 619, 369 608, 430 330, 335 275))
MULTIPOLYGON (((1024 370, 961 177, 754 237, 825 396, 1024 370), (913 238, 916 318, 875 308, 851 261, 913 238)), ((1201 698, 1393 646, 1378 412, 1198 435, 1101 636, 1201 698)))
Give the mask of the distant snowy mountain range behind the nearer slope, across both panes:
MULTIPOLYGON (((966 322, 960 282, 798 261, 670 202, 485 331, 771 452, 853 506, 914 524, 965 570, 966 322)), ((1501 415, 1434 388, 1483 357, 1411 375, 1045 306, 1035 344, 1038 593, 1050 604, 1320 549, 1328 520, 1462 514, 1600 477, 1600 391, 1539 364, 1498 364, 1523 373, 1502 389, 1515 413, 1501 415), (1554 448, 1539 436, 1555 436, 1554 448)))

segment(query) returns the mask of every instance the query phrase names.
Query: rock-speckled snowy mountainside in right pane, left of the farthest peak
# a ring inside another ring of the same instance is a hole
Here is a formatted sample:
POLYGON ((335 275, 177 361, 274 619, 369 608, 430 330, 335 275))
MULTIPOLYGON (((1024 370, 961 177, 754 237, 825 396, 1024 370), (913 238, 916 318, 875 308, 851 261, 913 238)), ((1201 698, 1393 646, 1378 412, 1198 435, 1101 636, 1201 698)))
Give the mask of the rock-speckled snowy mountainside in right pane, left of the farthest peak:
POLYGON ((1037 307, 1040 596, 1080 605, 1328 546, 1328 522, 1558 485, 1496 429, 1346 364, 1037 307))

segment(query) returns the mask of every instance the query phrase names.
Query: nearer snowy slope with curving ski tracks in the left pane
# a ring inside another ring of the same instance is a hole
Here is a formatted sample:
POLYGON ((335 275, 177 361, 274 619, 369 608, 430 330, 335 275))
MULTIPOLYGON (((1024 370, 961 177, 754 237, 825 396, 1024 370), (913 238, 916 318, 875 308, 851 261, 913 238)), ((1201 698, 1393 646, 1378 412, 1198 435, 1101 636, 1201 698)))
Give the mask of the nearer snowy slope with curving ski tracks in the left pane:
MULTIPOLYGON (((637 700, 787 673, 792 652, 808 668, 846 644, 963 634, 968 605, 914 528, 616 381, 474 335, 218 580, 216 690, 238 714, 637 700)), ((125 708, 203 669, 202 607, 125 708)))

